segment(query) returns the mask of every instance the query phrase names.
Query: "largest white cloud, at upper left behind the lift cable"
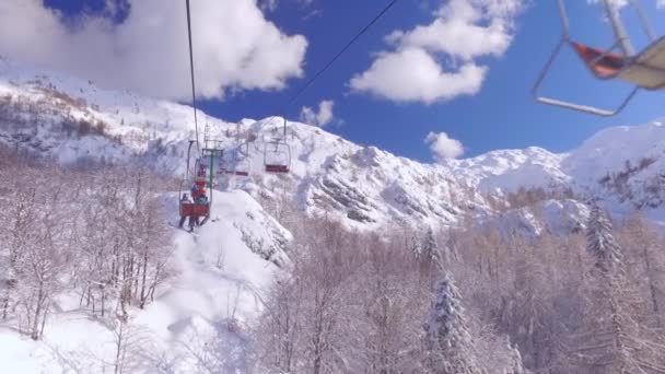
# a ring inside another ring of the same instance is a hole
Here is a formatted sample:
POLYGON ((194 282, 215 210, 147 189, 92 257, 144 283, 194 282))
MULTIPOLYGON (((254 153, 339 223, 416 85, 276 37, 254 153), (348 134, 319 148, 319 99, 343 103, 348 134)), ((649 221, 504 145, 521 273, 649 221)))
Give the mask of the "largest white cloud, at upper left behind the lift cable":
MULTIPOLYGON (((118 25, 84 16, 65 24, 40 0, 0 1, 0 50, 39 67, 68 71, 112 89, 187 98, 190 92, 185 5, 130 0, 118 25)), ((301 77, 307 40, 267 21, 256 0, 191 2, 198 94, 276 90, 301 77)))

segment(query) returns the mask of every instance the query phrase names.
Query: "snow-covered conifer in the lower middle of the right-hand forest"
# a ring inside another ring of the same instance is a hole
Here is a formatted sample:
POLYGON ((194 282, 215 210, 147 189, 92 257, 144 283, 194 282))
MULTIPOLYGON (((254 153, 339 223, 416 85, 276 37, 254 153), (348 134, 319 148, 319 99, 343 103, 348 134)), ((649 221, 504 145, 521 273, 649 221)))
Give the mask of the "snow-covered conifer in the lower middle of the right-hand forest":
POLYGON ((468 330, 462 297, 453 278, 445 274, 436 282, 436 303, 425 329, 425 363, 429 373, 481 373, 474 339, 468 330))

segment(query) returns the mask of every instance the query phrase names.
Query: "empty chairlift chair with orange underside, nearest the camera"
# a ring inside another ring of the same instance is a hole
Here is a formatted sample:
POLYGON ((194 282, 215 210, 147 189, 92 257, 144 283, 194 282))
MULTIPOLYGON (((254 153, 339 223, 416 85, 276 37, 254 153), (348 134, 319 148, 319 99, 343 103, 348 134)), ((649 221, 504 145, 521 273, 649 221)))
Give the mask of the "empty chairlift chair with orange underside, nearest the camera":
POLYGON ((586 46, 575 42, 570 35, 570 25, 565 5, 563 0, 557 0, 559 5, 559 15, 563 27, 562 36, 557 44, 545 68, 540 72, 532 93, 536 101, 555 105, 568 109, 590 113, 599 116, 614 116, 621 112, 632 100, 640 89, 644 90, 662 90, 665 89, 665 37, 655 38, 654 33, 642 12, 642 9, 637 3, 638 0, 631 1, 631 4, 637 8, 640 15, 642 27, 651 39, 651 44, 643 50, 635 54, 633 51, 630 39, 623 28, 617 9, 611 4, 610 0, 604 0, 605 9, 612 25, 615 33, 615 43, 608 49, 599 49, 586 46), (541 96, 538 92, 542 81, 547 77, 551 66, 556 61, 559 52, 564 45, 569 45, 591 70, 591 72, 600 80, 621 80, 633 84, 633 89, 621 104, 615 109, 603 109, 593 106, 576 104, 558 98, 541 96), (616 51, 620 48, 620 51, 616 51))

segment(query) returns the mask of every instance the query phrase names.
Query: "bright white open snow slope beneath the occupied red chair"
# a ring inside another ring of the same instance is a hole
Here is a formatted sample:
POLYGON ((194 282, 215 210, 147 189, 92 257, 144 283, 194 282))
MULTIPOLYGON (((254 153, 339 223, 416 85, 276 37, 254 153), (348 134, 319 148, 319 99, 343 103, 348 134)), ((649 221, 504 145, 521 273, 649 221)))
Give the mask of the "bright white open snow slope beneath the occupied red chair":
MULTIPOLYGON (((165 202, 175 217, 176 194, 165 202)), ((217 363, 225 372, 243 369, 242 326, 260 313, 278 271, 275 264, 288 265, 282 246, 290 238, 247 194, 215 191, 212 220, 197 234, 173 229, 174 276, 160 287, 155 302, 129 312, 130 372, 152 373, 158 366, 198 372, 197 354, 206 353, 206 343, 220 344, 224 358, 217 363), (249 242, 270 250, 257 253, 249 242)), ((44 341, 16 334, 7 327, 11 323, 0 326, 0 373, 113 373, 114 330, 78 305, 78 295, 60 295, 56 308, 61 312, 49 316, 44 341)))

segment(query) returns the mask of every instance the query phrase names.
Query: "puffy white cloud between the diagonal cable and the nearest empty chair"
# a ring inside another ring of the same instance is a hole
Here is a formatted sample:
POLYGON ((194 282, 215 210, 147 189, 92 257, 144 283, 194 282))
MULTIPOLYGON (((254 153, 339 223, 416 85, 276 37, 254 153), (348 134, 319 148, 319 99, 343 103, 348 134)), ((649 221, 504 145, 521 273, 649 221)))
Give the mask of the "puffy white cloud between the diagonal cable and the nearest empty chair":
POLYGON ((394 50, 378 54, 350 86, 392 101, 427 104, 474 95, 488 71, 478 59, 505 54, 525 1, 443 1, 431 23, 389 34, 386 40, 394 50))

